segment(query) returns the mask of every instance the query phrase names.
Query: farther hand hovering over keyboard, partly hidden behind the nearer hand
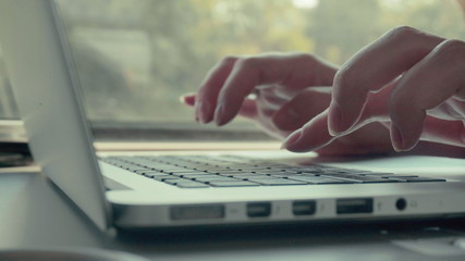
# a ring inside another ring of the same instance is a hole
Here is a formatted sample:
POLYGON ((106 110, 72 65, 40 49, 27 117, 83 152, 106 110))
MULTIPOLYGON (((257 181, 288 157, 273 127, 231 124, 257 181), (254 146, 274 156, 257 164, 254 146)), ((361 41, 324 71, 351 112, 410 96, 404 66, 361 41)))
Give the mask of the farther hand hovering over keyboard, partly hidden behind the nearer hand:
MULTIPOLYGON (((335 72, 317 58, 302 53, 227 58, 210 71, 197 95, 183 99, 195 105, 198 122, 223 125, 240 114, 272 136, 285 138, 329 107, 335 72)), ((327 127, 313 136, 322 142, 331 137, 327 127)), ((377 123, 317 150, 320 154, 390 151, 389 133, 377 123)))

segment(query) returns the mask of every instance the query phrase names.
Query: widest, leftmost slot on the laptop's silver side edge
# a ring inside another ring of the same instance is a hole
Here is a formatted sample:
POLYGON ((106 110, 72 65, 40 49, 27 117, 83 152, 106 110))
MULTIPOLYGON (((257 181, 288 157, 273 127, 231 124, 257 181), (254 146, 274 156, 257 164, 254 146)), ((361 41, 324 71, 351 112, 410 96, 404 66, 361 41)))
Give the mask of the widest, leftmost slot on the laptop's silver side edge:
POLYGON ((170 209, 173 221, 184 220, 218 220, 224 217, 222 204, 174 206, 170 209))

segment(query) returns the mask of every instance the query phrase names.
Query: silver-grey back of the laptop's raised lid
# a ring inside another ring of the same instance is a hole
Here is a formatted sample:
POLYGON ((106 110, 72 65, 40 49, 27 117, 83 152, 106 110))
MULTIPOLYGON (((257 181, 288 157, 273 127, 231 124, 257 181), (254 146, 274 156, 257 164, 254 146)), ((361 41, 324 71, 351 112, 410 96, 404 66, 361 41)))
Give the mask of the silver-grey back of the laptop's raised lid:
POLYGON ((54 2, 0 1, 0 33, 35 161, 100 228, 107 227, 102 178, 54 2))

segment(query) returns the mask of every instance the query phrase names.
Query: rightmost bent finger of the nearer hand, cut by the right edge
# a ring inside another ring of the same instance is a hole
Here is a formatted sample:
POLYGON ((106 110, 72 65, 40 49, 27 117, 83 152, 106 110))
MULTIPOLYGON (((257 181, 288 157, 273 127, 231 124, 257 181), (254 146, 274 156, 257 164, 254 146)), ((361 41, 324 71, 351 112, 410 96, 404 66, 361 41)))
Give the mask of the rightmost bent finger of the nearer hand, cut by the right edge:
POLYGON ((451 97, 465 98, 464 61, 465 42, 443 41, 399 80, 390 99, 396 150, 409 150, 418 142, 429 110, 451 97))

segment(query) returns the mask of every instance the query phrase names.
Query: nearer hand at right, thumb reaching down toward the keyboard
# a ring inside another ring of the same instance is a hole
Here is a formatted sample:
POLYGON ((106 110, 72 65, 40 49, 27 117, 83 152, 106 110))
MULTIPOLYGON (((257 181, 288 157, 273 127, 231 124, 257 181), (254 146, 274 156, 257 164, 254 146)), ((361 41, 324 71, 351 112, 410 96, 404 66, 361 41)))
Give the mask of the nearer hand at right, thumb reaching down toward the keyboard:
POLYGON ((372 122, 390 128, 396 151, 419 140, 465 147, 465 42, 395 28, 347 61, 329 110, 292 134, 292 151, 325 147, 372 122), (327 139, 316 140, 325 132, 327 139))

